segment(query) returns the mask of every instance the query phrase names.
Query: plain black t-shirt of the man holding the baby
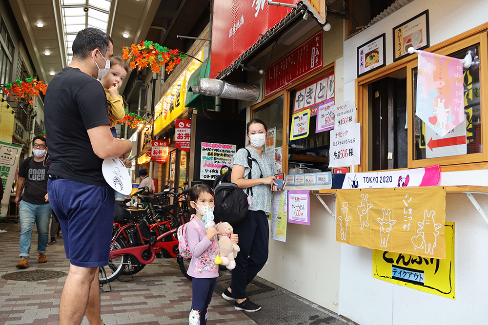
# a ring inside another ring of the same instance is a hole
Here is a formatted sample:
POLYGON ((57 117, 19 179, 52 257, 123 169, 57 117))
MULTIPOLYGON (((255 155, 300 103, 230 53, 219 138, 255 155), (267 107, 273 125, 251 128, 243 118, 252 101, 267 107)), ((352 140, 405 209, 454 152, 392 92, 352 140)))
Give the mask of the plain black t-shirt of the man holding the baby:
POLYGON ((66 67, 44 97, 49 174, 88 185, 106 185, 102 162, 86 130, 109 124, 102 84, 80 69, 66 67))

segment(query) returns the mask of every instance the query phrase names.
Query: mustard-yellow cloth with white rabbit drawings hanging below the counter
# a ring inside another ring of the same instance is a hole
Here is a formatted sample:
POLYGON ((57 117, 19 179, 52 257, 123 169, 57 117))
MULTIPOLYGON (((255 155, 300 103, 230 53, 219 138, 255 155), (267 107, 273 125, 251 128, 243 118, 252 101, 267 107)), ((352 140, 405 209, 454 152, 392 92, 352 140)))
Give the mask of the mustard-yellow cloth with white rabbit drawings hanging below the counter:
POLYGON ((338 242, 446 258, 444 187, 339 190, 336 213, 338 242))

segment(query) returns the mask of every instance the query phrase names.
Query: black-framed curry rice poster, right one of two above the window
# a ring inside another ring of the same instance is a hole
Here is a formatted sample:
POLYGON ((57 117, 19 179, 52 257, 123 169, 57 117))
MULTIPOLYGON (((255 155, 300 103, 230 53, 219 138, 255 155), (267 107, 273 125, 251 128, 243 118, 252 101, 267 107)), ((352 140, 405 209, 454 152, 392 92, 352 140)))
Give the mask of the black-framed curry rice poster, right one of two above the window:
POLYGON ((422 50, 429 46, 428 10, 393 27, 393 61, 410 55, 409 47, 422 50))

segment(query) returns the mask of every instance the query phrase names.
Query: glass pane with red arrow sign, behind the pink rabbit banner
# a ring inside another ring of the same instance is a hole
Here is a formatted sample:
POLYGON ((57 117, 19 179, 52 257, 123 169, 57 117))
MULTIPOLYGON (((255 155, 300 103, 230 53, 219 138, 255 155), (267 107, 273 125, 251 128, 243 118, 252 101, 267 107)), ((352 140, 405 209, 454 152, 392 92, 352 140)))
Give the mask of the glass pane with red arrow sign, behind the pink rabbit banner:
MULTIPOLYGON (((450 54, 449 57, 463 59, 468 50, 474 50, 476 53, 479 53, 479 44, 476 44, 470 48, 462 49, 454 54, 450 54)), ((460 125, 456 126, 454 130, 442 138, 437 136, 435 132, 428 128, 428 126, 426 127, 426 124, 415 115, 415 111, 417 109, 417 68, 412 70, 412 76, 413 118, 415 119, 413 132, 413 159, 420 160, 427 158, 482 153, 480 67, 474 66, 469 69, 464 69, 463 99, 466 120, 465 122, 462 122, 460 125), (466 137, 466 142, 464 141, 464 137, 466 137), (462 140, 459 143, 463 142, 463 144, 456 145, 458 143, 456 142, 458 138, 462 140)))

